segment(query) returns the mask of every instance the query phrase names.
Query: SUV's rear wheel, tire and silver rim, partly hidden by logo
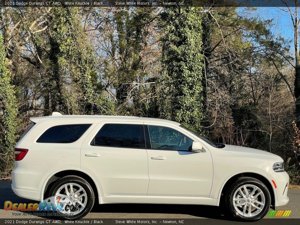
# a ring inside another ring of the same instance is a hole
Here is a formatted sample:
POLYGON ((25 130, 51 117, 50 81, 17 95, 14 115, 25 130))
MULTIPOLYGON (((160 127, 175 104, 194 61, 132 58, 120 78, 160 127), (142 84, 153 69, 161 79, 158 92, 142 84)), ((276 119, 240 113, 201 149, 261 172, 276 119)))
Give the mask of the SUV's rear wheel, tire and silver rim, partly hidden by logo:
POLYGON ((59 179, 50 189, 50 196, 65 195, 68 201, 64 203, 63 210, 59 213, 64 219, 80 219, 87 215, 95 202, 91 185, 78 176, 66 176, 59 179))

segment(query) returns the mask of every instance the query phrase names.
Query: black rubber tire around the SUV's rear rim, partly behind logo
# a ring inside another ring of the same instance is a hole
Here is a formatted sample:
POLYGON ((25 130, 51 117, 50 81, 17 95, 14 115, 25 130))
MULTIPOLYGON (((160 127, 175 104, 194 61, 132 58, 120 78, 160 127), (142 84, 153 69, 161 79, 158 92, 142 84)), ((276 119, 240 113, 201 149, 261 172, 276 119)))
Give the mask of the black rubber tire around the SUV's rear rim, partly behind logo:
MULTIPOLYGON (((87 194, 87 199, 86 199, 87 202, 86 202, 86 206, 82 209, 82 212, 79 212, 78 214, 72 215, 72 216, 60 216, 60 218, 69 219, 69 220, 80 219, 80 218, 86 216, 93 208, 93 205, 95 202, 95 195, 93 192, 93 188, 85 179, 78 177, 78 176, 70 175, 70 176, 65 176, 65 177, 59 179, 57 182, 55 182, 50 189, 49 196, 55 196, 59 187, 61 187, 64 184, 68 184, 68 183, 79 184, 81 187, 83 187, 84 191, 87 194)), ((59 212, 59 211, 57 211, 57 212, 59 212)))

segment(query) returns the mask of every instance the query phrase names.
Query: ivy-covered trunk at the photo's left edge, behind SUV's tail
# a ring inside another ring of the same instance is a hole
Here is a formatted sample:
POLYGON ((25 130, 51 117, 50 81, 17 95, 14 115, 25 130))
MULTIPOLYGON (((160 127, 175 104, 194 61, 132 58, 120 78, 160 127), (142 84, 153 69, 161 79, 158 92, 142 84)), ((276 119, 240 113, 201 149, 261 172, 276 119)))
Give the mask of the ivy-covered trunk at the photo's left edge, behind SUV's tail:
POLYGON ((11 173, 14 166, 13 147, 16 143, 17 104, 7 63, 3 37, 0 34, 0 179, 11 173))

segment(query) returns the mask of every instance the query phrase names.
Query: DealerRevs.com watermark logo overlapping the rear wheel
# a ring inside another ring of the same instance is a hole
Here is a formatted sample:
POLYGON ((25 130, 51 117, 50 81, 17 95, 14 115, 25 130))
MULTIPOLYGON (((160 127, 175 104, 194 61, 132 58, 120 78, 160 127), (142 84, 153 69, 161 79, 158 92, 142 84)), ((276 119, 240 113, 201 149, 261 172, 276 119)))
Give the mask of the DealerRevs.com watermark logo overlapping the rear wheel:
POLYGON ((13 215, 20 216, 21 212, 31 213, 36 216, 73 216, 81 211, 82 205, 67 195, 58 194, 49 197, 39 203, 13 203, 11 201, 4 202, 5 211, 18 211, 13 215), (50 213, 50 212, 55 213, 50 213))

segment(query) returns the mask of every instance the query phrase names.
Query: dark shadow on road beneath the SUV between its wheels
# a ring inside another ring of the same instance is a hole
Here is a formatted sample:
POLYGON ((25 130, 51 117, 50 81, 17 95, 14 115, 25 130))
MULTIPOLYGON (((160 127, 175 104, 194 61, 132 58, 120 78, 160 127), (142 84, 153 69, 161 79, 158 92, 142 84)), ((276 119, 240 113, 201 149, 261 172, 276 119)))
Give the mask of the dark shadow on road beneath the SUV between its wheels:
MULTIPOLYGON (((224 211, 224 210, 223 210, 224 211)), ((226 216, 221 207, 203 205, 173 205, 173 204, 103 204, 94 205, 94 213, 139 213, 145 216, 154 214, 185 214, 193 217, 204 217, 221 220, 231 220, 226 216)), ((161 216, 164 218, 164 216, 161 216)), ((178 215, 178 218, 180 216, 178 215)), ((191 217, 192 218, 192 217, 191 217)))

